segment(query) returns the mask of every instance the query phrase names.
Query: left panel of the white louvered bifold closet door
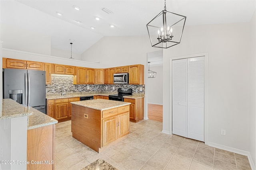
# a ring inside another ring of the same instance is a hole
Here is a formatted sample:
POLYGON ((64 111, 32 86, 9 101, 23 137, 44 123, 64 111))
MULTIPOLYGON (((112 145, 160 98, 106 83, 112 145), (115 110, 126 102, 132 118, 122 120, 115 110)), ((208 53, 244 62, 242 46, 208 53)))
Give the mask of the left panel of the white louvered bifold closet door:
POLYGON ((172 133, 187 137, 187 59, 172 61, 172 133))

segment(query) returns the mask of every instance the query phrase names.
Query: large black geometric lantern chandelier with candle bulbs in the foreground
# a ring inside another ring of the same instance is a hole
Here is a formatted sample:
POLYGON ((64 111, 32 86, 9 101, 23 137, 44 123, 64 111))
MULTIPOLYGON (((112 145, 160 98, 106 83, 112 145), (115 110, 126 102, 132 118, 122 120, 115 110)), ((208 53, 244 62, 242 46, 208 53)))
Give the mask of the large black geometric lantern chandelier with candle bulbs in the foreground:
POLYGON ((169 48, 180 43, 186 17, 164 10, 147 24, 152 47, 169 48))

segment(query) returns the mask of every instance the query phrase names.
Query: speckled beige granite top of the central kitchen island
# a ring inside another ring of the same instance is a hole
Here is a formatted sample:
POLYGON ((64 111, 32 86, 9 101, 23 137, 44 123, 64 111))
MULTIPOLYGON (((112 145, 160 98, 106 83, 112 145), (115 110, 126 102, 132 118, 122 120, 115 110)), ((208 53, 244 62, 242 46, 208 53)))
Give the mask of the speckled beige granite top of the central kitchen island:
POLYGON ((127 106, 127 105, 130 105, 131 103, 120 102, 120 101, 115 101, 115 100, 93 99, 93 100, 83 100, 83 101, 78 101, 78 102, 71 102, 71 104, 103 111, 103 110, 113 109, 116 107, 127 106))

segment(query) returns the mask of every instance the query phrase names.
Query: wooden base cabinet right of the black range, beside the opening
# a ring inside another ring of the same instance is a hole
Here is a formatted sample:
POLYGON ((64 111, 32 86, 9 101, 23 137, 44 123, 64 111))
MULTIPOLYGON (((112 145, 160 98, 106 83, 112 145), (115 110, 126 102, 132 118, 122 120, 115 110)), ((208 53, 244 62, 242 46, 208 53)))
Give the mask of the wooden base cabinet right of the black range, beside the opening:
POLYGON ((124 102, 130 102, 130 121, 138 122, 144 119, 144 98, 124 98, 124 102))

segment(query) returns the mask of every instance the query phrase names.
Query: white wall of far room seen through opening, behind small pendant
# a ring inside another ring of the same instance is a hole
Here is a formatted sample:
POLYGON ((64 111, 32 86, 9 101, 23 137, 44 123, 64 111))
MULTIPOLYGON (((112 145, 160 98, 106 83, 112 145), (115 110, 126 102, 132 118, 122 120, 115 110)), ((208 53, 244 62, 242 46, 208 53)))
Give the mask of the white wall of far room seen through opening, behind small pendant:
POLYGON ((147 79, 148 103, 163 104, 163 66, 150 66, 150 70, 156 72, 156 78, 147 79))

